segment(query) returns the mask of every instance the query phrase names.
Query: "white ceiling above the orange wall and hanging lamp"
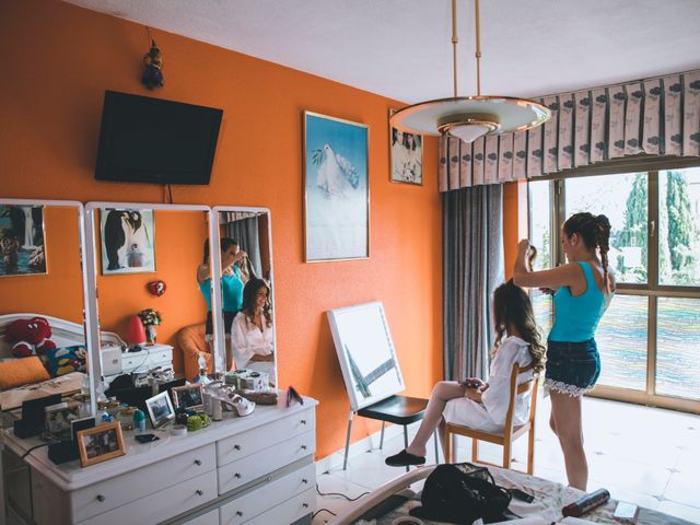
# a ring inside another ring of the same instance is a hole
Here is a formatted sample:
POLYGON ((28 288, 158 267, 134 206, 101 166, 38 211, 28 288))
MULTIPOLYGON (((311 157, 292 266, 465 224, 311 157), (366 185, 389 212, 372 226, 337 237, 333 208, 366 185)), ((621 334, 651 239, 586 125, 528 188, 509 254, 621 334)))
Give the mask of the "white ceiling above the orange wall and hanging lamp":
MULTIPOLYGON (((67 1, 407 103, 453 94, 450 0, 67 1)), ((457 3, 459 95, 474 95, 474 4, 457 3)), ((698 69, 698 0, 482 0, 481 92, 698 69)))

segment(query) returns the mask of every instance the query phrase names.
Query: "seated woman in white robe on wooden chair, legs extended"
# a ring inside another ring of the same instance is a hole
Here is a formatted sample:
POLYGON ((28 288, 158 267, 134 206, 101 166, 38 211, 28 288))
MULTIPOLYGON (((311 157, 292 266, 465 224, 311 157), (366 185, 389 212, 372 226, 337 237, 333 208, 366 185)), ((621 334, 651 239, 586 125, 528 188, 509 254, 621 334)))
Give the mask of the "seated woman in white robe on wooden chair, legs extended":
MULTIPOLYGON (((533 304, 527 293, 513 284, 501 284, 493 293, 495 345, 491 352, 489 382, 468 378, 462 383, 441 381, 433 388, 420 428, 408 448, 389 456, 385 463, 392 467, 425 463, 425 443, 435 428, 444 421, 463 424, 485 432, 503 430, 511 392, 513 364, 532 369, 520 374, 518 384, 533 377, 545 365, 545 347, 535 323, 533 304), (503 336, 508 335, 505 339, 503 336)), ((515 400, 515 424, 527 421, 528 398, 520 394, 515 400)), ((442 432, 441 432, 442 436, 442 432)), ((444 446, 444 443, 443 443, 444 446)))

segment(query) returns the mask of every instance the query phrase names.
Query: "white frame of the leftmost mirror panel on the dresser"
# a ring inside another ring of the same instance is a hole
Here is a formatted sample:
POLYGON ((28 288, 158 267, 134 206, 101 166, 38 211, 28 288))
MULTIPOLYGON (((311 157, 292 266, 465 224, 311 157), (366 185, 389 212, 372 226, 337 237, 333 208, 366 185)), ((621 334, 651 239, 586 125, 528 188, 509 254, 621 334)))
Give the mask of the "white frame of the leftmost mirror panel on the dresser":
MULTIPOLYGON (((80 249, 80 264, 81 264, 81 281, 82 281, 82 292, 83 292, 83 331, 85 334, 85 347, 88 348, 88 354, 90 359, 88 360, 88 375, 90 377, 90 412, 91 416, 95 416, 97 413, 97 400, 95 393, 97 392, 97 383, 96 377, 100 376, 100 381, 102 381, 102 376, 100 374, 101 363, 100 363, 100 351, 94 350, 94 340, 96 339, 93 329, 95 325, 91 323, 91 302, 92 302, 92 289, 90 287, 90 276, 88 272, 88 249, 89 245, 92 243, 86 242, 85 235, 85 208, 83 203, 78 200, 54 200, 54 199, 4 199, 0 198, 0 205, 7 206, 52 206, 57 208, 75 208, 78 210, 78 243, 80 249), (95 360, 95 355, 97 359, 95 360)), ((46 222, 46 218, 44 218, 46 222)))

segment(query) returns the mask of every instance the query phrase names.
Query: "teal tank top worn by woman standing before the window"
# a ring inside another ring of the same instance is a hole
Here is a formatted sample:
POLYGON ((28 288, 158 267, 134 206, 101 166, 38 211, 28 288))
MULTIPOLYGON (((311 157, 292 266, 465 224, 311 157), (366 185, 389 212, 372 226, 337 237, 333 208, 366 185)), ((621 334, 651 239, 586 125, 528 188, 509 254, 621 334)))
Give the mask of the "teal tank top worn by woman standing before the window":
POLYGON ((560 288, 555 294, 555 326, 549 339, 561 342, 587 341, 595 335, 598 322, 605 313, 608 301, 598 290, 588 262, 579 262, 586 278, 586 291, 573 296, 569 287, 560 288))

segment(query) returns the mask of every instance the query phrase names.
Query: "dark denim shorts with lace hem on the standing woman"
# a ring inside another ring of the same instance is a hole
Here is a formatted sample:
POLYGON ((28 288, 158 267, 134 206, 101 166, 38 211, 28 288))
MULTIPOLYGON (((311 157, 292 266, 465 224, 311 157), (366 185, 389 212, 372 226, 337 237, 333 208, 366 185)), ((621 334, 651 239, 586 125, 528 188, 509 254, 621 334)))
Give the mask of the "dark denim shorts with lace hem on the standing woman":
POLYGON ((600 355, 595 339, 582 342, 547 341, 545 386, 580 397, 591 392, 600 375, 600 355))

